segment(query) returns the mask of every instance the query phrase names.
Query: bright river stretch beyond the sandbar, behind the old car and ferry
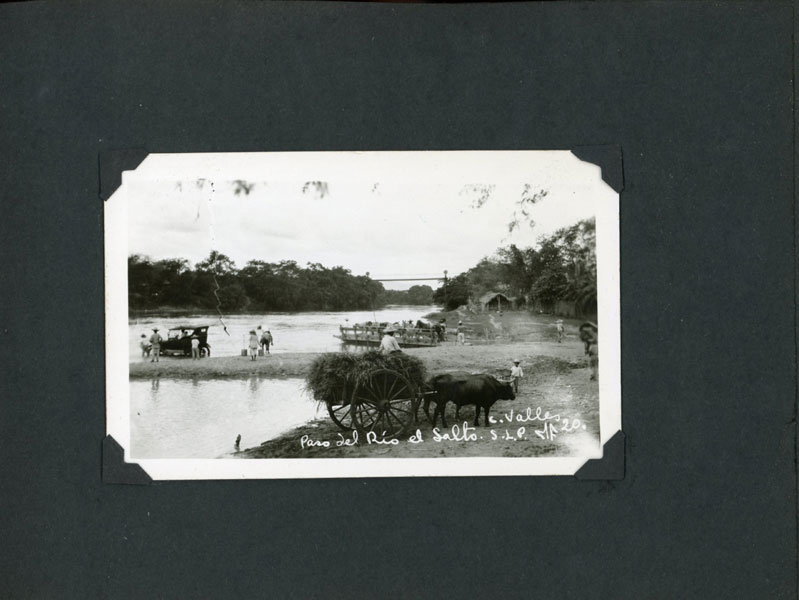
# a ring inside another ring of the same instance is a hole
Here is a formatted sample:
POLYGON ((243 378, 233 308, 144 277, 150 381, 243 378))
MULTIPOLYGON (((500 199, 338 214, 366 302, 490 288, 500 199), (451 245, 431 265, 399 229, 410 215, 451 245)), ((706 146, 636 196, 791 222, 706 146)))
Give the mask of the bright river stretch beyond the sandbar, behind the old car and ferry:
POLYGON ((212 356, 239 356, 247 347, 251 329, 261 325, 272 332, 275 340, 273 352, 335 352, 341 349, 341 342, 333 337, 340 325, 363 323, 366 321, 414 322, 424 315, 439 310, 438 306, 387 306, 376 311, 349 312, 302 312, 271 313, 260 315, 223 316, 227 333, 218 315, 198 314, 188 317, 147 316, 128 321, 128 340, 131 360, 141 360, 139 340, 144 334, 152 335, 153 327, 166 338, 170 327, 189 325, 211 325, 208 330, 208 343, 212 356), (229 334, 229 335, 228 335, 229 334))

